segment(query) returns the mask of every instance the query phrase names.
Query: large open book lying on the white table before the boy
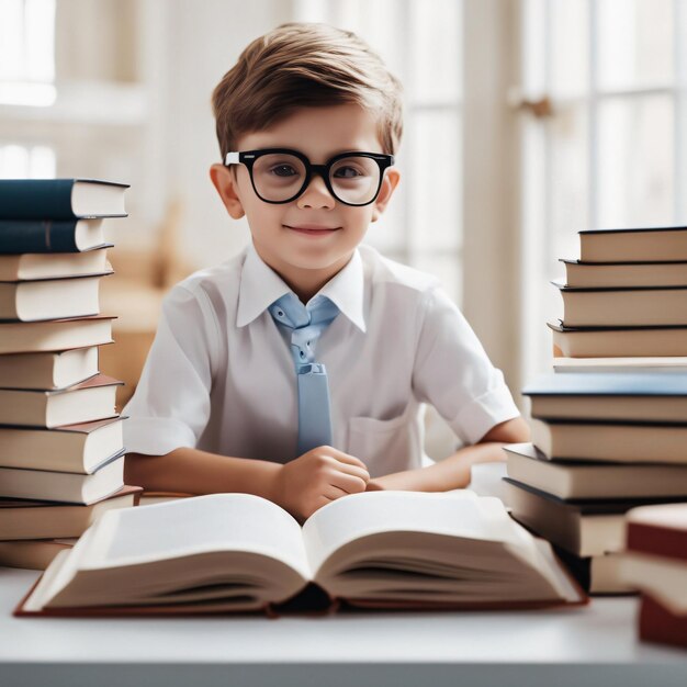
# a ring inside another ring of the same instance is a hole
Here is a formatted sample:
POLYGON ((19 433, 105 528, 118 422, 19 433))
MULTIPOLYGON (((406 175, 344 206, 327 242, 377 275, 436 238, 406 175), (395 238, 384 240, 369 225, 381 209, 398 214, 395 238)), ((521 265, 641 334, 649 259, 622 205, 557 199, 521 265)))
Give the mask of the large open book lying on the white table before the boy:
POLYGON ((341 601, 518 608, 586 597, 498 498, 369 492, 301 527, 264 498, 213 494, 103 514, 14 613, 279 615, 341 601))

